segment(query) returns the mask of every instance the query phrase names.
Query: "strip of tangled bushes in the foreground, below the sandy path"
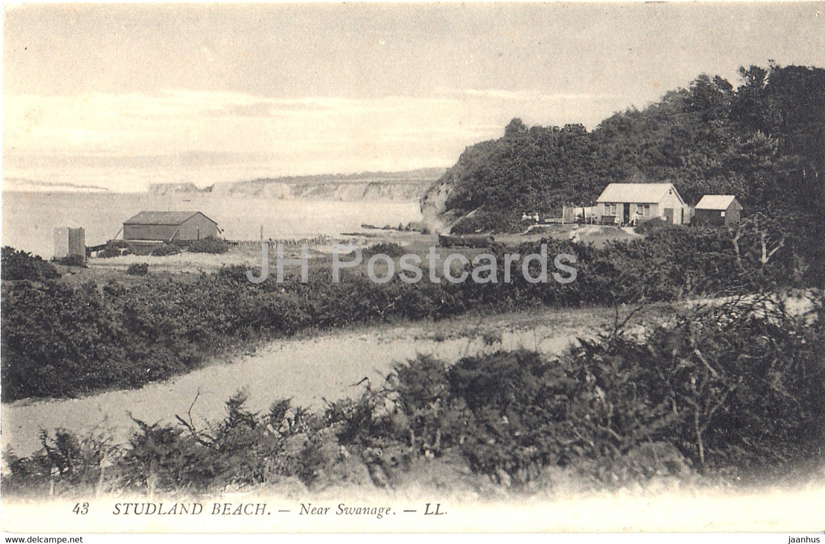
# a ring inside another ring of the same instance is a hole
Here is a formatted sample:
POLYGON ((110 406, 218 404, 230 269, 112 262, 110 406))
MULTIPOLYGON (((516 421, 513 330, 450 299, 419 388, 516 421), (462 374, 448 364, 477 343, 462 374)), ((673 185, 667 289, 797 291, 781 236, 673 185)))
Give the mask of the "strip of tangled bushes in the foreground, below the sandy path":
POLYGON ((419 356, 381 387, 321 412, 281 400, 252 414, 239 392, 222 421, 137 421, 125 446, 43 433, 39 452, 7 454, 3 492, 51 485, 58 495, 93 488, 153 496, 289 478, 309 487, 394 486, 440 459, 453 478, 469 467, 498 484, 534 488, 552 481, 554 467, 594 488, 690 480, 697 470, 796 471, 821 462, 825 446, 821 304, 794 316, 770 297, 739 298, 643 337, 617 317, 552 359, 524 350, 488 350, 453 365, 419 356))

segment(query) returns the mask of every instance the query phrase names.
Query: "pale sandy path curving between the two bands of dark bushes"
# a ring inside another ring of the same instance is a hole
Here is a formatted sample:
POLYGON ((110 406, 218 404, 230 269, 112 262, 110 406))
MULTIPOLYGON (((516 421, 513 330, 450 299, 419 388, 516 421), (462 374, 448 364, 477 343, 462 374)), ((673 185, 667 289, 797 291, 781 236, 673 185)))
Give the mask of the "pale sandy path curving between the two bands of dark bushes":
MULTIPOLYGON (((533 349, 539 345, 543 352, 557 353, 569 344, 573 334, 592 324, 594 317, 592 312, 580 310, 516 314, 485 320, 484 330, 501 331, 505 349, 533 349), (526 325, 525 321, 540 325, 526 325)), ((11 447, 17 455, 26 455, 40 448, 40 429, 56 428, 78 434, 100 431, 125 442, 134 429, 130 413, 148 423, 172 422, 174 415, 186 417, 198 392, 192 408, 196 424, 221 419, 225 401, 241 388, 247 391, 247 407, 251 410, 266 410, 272 401, 286 397, 292 397, 295 405, 318 407, 323 406, 323 399, 359 396, 363 386, 353 384, 361 378, 379 384, 394 363, 417 354, 455 361, 482 349, 478 323, 470 317, 281 340, 254 354, 235 357, 231 363, 215 363, 136 390, 2 405, 0 444, 4 452, 11 447)))

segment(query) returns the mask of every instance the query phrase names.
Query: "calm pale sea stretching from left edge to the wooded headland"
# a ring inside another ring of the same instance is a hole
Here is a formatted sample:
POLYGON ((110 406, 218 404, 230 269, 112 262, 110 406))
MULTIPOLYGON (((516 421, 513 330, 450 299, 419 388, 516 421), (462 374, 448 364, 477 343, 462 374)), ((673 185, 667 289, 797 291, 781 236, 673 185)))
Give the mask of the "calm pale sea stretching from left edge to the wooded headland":
MULTIPOLYGON (((192 210, 218 223, 229 240, 290 239, 320 234, 336 236, 378 227, 406 225, 422 218, 417 201, 342 201, 266 199, 224 195, 153 195, 150 193, 2 192, 3 246, 54 256, 55 227, 83 227, 86 245, 118 235, 123 222, 143 210, 192 210)), ((118 237, 120 237, 118 235, 118 237)))

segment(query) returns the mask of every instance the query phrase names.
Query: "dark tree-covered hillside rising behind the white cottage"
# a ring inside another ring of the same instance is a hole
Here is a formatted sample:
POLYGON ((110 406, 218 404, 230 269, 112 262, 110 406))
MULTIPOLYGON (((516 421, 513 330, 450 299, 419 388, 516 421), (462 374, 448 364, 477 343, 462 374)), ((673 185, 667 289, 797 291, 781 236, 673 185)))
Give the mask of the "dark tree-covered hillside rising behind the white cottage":
MULTIPOLYGON (((643 110, 579 124, 528 128, 467 148, 441 179, 447 211, 467 232, 512 230, 524 211, 590 205, 610 182, 670 181, 688 204, 737 195, 752 210, 825 210, 825 70, 741 68, 737 88, 700 75, 643 110)), ((780 211, 777 211, 780 210, 780 211)))

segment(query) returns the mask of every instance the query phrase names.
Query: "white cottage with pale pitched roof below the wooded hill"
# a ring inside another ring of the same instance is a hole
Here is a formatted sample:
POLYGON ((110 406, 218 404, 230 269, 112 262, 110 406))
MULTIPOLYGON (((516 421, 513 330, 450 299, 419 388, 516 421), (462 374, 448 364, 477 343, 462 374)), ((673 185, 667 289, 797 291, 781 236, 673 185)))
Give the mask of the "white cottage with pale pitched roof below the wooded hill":
POLYGON ((672 183, 611 183, 596 199, 601 223, 627 225, 662 218, 681 225, 691 222, 690 212, 672 183))

